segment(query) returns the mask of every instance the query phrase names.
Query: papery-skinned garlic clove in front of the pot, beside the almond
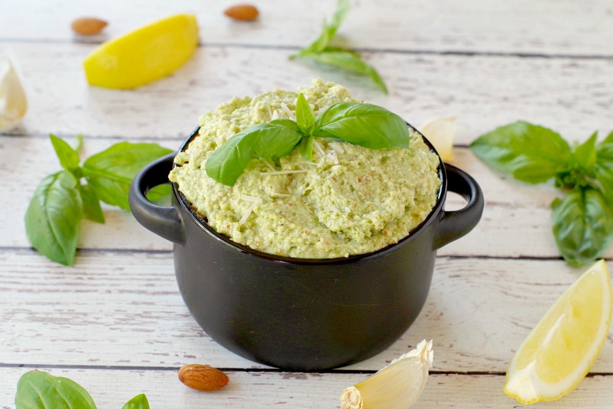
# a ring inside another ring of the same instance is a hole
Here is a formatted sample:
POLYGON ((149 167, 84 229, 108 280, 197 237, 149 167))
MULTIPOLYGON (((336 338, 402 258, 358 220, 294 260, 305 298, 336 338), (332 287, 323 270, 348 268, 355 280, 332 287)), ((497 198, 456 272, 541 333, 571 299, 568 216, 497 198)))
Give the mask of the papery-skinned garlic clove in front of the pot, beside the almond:
POLYGON ((341 394, 341 409, 405 409, 417 401, 432 367, 432 340, 417 344, 408 353, 365 381, 341 394))

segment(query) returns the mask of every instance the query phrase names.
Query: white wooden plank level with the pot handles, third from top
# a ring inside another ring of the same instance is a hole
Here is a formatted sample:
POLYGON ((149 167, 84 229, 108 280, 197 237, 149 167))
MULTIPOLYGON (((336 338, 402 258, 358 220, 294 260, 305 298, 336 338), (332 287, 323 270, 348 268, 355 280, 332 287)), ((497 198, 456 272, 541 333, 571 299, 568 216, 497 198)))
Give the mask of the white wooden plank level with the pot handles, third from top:
MULTIPOLYGON (((71 139, 67 139, 71 142, 71 139)), ((104 150, 115 139, 88 137, 83 145, 86 158, 104 150)), ((176 148, 178 140, 158 140, 161 145, 176 148)), ((0 213, 0 247, 29 247, 23 215, 36 186, 46 175, 59 170, 48 139, 0 136, 0 150, 6 160, 0 163, 0 179, 6 193, 0 196, 5 212, 0 213), (36 166, 32 164, 36 158, 36 166), (14 177, 15 169, 24 164, 26 177, 14 177)), ((485 196, 481 222, 466 237, 443 247, 441 255, 512 257, 558 257, 551 232, 550 203, 558 192, 549 185, 532 186, 520 183, 487 168, 467 148, 455 148, 455 164, 473 175, 485 196), (525 237, 525 239, 521 239, 525 237)), ((462 199, 451 197, 454 208, 462 199)), ((105 207, 105 224, 83 221, 79 248, 136 249, 170 251, 172 245, 147 231, 131 214, 119 208, 105 207)), ((613 257, 613 245, 604 253, 613 257)))

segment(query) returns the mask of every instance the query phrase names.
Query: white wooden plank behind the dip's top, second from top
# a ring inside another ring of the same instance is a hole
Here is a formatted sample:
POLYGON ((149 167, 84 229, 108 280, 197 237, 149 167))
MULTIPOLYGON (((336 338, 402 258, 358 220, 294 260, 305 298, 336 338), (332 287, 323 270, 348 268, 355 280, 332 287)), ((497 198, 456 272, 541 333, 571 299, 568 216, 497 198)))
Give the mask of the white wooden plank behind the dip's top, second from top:
POLYGON ((93 45, 0 47, 7 44, 20 59, 30 99, 28 115, 13 134, 183 140, 202 113, 233 96, 295 90, 317 77, 348 86, 354 96, 416 127, 432 117, 457 117, 459 145, 520 119, 568 140, 585 140, 596 130, 604 137, 612 127, 613 59, 365 53, 386 80, 390 94, 384 96, 362 76, 289 61, 287 50, 211 46, 199 48, 169 77, 117 91, 86 84, 82 59, 93 45))

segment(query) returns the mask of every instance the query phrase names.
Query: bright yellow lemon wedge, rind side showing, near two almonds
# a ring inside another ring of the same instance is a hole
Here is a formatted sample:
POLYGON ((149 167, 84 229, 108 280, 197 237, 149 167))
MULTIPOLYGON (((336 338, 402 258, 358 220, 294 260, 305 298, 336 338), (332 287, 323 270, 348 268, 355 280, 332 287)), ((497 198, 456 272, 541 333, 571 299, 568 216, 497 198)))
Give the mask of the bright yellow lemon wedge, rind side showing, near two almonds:
POLYGON ((83 61, 91 85, 136 88, 177 70, 198 44, 196 17, 178 14, 105 42, 83 61))

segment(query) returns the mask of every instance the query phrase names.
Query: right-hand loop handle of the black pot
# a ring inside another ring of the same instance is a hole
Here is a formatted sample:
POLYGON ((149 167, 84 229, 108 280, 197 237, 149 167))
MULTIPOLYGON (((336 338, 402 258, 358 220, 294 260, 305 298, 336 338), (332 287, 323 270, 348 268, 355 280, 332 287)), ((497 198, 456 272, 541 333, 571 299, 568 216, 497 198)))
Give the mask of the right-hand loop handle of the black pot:
POLYGON ((434 238, 435 250, 459 239, 479 223, 483 213, 483 193, 476 180, 463 170, 444 164, 447 173, 447 191, 452 191, 468 201, 460 210, 443 212, 434 238))

